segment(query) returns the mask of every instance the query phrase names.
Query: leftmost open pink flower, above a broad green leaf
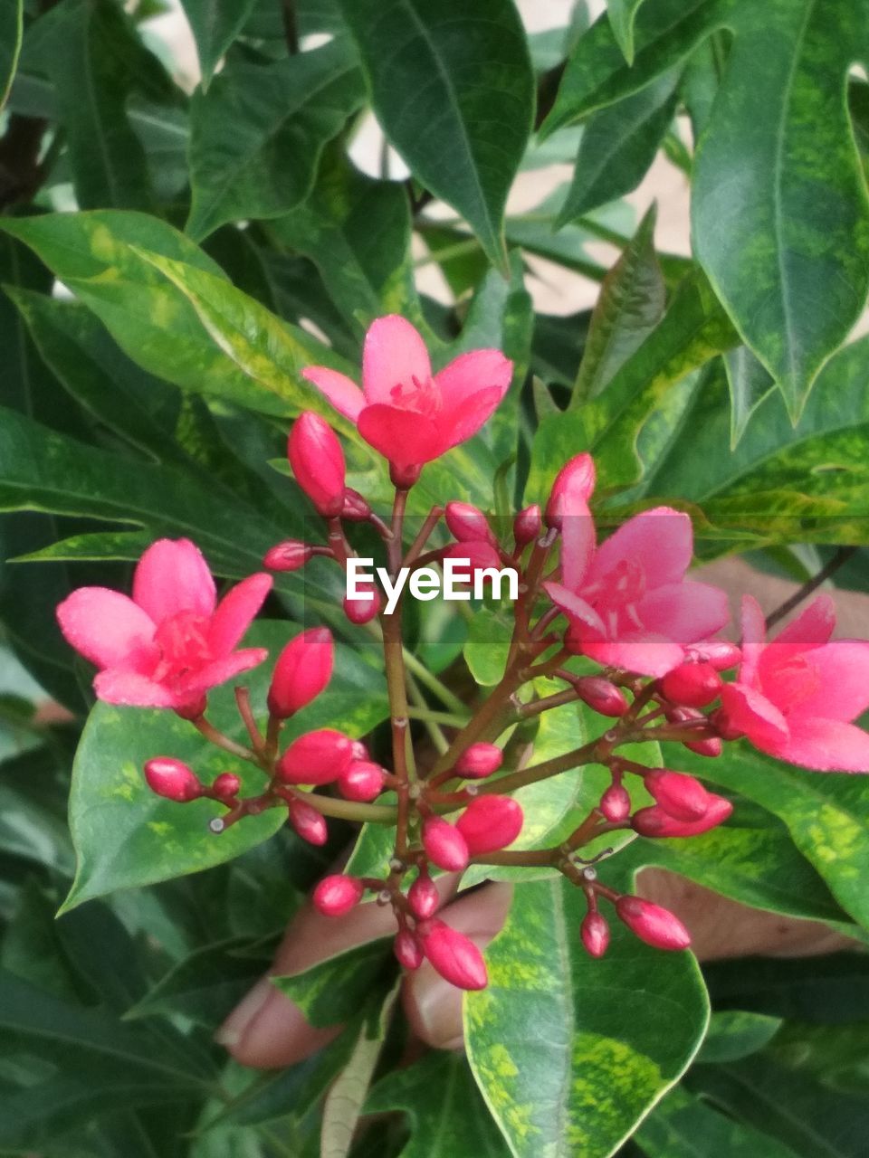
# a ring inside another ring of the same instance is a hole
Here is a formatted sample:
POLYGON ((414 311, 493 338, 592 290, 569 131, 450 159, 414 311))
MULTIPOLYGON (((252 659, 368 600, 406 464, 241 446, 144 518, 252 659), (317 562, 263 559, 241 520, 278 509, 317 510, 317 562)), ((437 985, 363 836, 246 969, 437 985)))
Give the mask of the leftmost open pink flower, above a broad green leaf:
POLYGON ((109 704, 195 711, 209 688, 261 664, 263 647, 234 651, 271 589, 249 576, 216 607, 214 580, 189 538, 160 538, 133 576, 133 598, 79 587, 57 609, 67 643, 100 672, 109 704))

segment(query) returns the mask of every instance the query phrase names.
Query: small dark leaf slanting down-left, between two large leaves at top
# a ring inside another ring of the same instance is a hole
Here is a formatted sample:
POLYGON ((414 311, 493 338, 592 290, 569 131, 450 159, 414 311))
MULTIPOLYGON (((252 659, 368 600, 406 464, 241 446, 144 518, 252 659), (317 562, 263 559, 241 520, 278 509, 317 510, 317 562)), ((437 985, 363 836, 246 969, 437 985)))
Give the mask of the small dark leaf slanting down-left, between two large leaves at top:
POLYGON ((589 118, 558 226, 636 189, 672 124, 678 83, 679 71, 670 69, 589 118))

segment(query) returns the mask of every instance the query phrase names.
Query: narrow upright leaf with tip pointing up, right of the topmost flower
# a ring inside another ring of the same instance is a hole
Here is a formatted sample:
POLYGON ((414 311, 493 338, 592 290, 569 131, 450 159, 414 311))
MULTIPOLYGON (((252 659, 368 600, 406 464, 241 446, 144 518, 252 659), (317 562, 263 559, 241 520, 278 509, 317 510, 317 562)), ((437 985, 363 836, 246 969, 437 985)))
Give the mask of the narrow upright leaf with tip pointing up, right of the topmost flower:
POLYGON ((656 219, 652 205, 604 278, 591 315, 571 406, 600 394, 664 315, 664 278, 655 254, 656 219))

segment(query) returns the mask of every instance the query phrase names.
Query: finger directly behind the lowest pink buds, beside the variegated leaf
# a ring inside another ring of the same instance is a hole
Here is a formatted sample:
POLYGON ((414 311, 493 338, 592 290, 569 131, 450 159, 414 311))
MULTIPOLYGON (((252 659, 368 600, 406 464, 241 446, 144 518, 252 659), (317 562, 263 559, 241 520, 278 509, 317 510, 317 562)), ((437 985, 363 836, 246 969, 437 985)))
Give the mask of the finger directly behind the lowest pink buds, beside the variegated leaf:
MULTIPOLYGON (((513 896, 512 885, 485 885, 453 901, 438 916, 484 948, 506 921, 513 896)), ((424 961, 404 980, 402 1001, 411 1029, 436 1049, 460 1049, 462 991, 424 961)))

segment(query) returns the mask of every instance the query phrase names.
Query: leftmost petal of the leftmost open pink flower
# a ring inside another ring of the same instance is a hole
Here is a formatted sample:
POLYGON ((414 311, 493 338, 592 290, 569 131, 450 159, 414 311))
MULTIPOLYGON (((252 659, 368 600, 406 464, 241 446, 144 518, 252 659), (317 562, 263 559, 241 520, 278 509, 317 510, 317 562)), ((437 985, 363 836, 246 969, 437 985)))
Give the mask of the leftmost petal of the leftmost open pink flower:
POLYGON ((67 643, 97 667, 149 672, 160 657, 153 621, 119 591, 79 587, 57 617, 67 643))

